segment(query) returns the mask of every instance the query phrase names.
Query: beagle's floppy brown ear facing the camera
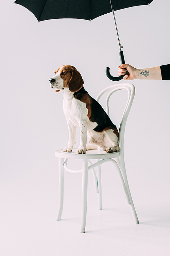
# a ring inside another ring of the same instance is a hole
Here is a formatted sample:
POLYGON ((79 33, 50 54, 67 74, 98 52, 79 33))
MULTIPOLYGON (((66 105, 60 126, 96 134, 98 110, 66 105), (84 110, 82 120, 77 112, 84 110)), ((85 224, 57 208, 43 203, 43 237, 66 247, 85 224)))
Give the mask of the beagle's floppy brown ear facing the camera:
POLYGON ((78 92, 84 84, 83 78, 77 69, 71 68, 71 78, 68 83, 68 88, 71 92, 78 92))

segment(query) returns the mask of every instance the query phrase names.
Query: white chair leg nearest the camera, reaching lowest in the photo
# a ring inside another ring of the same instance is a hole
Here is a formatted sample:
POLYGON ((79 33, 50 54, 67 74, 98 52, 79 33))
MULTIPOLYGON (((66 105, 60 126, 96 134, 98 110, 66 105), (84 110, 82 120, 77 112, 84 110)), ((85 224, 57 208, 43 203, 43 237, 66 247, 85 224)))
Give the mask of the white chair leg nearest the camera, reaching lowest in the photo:
POLYGON ((83 160, 82 174, 82 217, 80 232, 85 232, 86 216, 87 216, 87 184, 88 184, 88 159, 83 160))

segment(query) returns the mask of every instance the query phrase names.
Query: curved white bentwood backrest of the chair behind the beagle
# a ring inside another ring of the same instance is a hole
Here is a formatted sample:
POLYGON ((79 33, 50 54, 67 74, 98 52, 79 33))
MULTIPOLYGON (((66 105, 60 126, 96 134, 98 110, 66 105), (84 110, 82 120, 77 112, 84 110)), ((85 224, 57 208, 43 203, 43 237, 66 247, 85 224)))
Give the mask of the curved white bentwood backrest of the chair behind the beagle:
POLYGON ((126 121, 133 103, 133 99, 135 96, 135 86, 133 84, 130 83, 119 83, 119 84, 114 84, 111 86, 106 87, 103 91, 101 91, 99 93, 99 95, 97 96, 96 100, 99 101, 100 98, 102 97, 103 94, 105 94, 106 92, 112 90, 111 92, 108 93, 107 98, 106 98, 106 112, 109 116, 109 107, 108 107, 108 103, 109 103, 109 99, 111 97, 111 95, 119 90, 126 90, 128 91, 128 100, 123 112, 123 116, 120 122, 120 127, 119 127, 119 151, 121 153, 121 151, 123 152, 123 145, 124 145, 124 131, 125 131, 125 125, 126 125, 126 121))

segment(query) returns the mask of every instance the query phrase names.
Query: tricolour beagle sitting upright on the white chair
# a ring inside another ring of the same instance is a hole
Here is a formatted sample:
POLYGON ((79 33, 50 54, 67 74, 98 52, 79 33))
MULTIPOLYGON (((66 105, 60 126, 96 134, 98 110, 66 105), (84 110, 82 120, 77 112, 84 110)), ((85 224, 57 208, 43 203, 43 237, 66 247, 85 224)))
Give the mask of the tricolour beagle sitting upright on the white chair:
POLYGON ((79 71, 73 66, 61 66, 49 81, 55 92, 63 90, 63 109, 69 130, 68 146, 63 151, 72 151, 76 127, 80 128, 78 154, 85 154, 90 149, 106 150, 107 153, 118 151, 117 127, 101 105, 85 91, 79 71), (87 135, 90 145, 86 145, 87 135))

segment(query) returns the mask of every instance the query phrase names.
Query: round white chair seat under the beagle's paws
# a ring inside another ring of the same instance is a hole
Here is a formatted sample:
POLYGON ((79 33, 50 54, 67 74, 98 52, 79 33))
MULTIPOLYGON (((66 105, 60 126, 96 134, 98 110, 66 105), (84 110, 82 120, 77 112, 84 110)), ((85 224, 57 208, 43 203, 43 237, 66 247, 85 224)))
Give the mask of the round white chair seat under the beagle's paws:
POLYGON ((55 156, 67 159, 109 159, 119 157, 119 151, 114 153, 106 153, 98 149, 87 150, 86 154, 77 154, 77 148, 73 148, 72 152, 63 152, 63 149, 55 151, 55 156))

